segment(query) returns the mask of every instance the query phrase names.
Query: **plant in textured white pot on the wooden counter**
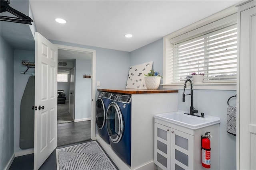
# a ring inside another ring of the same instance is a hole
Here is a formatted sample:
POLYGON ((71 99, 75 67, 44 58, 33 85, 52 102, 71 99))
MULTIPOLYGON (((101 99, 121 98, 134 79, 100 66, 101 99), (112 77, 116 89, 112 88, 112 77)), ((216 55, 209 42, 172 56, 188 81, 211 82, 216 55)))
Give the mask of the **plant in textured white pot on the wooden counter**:
POLYGON ((159 72, 154 72, 154 70, 150 70, 148 74, 144 74, 145 83, 148 90, 156 90, 158 89, 161 81, 161 77, 159 72))

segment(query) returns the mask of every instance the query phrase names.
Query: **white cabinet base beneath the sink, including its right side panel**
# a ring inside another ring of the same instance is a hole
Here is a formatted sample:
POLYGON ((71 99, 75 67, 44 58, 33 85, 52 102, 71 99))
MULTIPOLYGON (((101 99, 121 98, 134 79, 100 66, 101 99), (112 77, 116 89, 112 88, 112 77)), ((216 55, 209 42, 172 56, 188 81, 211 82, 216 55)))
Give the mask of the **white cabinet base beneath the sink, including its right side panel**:
POLYGON ((219 169, 219 123, 189 129, 154 119, 154 163, 163 170, 200 170, 202 167, 201 135, 207 131, 211 142, 211 169, 219 169))

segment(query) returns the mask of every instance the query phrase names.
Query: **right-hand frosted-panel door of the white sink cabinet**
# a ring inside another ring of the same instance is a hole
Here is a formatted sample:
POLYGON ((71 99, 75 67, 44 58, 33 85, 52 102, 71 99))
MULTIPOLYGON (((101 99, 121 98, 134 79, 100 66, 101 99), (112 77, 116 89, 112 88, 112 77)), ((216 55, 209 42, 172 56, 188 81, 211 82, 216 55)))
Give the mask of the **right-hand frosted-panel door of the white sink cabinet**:
POLYGON ((194 169, 194 136, 171 129, 171 169, 194 169))

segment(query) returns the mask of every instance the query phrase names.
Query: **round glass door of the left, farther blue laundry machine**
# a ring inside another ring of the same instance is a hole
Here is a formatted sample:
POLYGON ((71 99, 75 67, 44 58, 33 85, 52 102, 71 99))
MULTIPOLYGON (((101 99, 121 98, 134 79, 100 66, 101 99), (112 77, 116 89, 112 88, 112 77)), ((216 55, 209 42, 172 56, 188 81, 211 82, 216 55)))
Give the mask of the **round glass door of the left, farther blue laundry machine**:
POLYGON ((96 124, 99 129, 102 129, 106 120, 106 109, 102 98, 98 98, 95 107, 96 124))

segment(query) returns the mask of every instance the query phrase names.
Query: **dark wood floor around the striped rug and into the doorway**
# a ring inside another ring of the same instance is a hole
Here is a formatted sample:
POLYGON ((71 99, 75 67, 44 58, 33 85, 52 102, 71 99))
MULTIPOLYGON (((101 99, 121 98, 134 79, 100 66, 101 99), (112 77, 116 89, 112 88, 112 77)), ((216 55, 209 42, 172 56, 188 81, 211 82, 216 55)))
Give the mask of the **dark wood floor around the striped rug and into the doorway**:
MULTIPOLYGON (((62 123, 57 125, 57 148, 68 147, 91 140, 91 121, 62 123)), ((14 158, 9 170, 33 170, 34 154, 14 158)), ((56 150, 39 168, 40 170, 56 170, 56 150)))

